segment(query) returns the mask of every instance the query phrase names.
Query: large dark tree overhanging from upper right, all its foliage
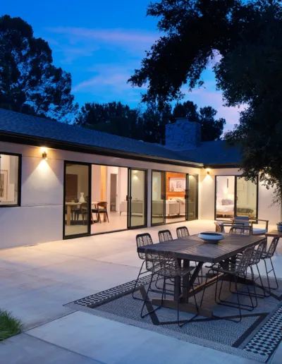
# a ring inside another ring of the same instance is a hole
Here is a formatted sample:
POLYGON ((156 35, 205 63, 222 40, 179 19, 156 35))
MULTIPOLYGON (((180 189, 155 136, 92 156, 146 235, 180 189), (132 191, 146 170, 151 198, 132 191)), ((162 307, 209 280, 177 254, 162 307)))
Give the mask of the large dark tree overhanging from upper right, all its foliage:
POLYGON ((245 178, 257 175, 274 202, 282 200, 281 0, 161 0, 150 4, 165 35, 155 42, 129 82, 147 84, 142 101, 180 99, 181 87, 202 85, 216 54, 217 87, 227 106, 245 104, 226 139, 239 145, 245 178))

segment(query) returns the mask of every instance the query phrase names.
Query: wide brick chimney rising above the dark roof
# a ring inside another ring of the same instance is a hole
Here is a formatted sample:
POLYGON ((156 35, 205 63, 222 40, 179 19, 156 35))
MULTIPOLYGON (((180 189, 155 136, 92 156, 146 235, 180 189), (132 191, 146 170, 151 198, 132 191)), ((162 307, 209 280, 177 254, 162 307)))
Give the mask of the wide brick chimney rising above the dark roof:
POLYGON ((166 145, 170 150, 189 150, 200 147, 200 123, 188 118, 176 118, 176 122, 166 125, 166 145))

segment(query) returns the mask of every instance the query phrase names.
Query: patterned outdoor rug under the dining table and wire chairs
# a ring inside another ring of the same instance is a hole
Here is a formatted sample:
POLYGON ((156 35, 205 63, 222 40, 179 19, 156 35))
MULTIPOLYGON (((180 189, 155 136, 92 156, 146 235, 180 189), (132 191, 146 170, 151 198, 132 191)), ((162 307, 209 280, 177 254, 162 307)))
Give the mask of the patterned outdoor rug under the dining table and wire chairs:
MULTIPOLYGON (((140 279, 138 290, 135 292, 136 297, 145 298, 148 282, 149 277, 140 279)), ((266 281, 264 283, 266 284, 266 281)), ((203 306, 212 309, 217 317, 198 316, 195 321, 181 328, 177 323, 177 311, 168 308, 160 308, 142 319, 140 317, 142 301, 133 299, 131 294, 134 284, 135 281, 130 281, 68 303, 66 306, 262 363, 270 358, 282 340, 282 280, 279 281, 279 289, 271 291, 269 298, 258 298, 255 310, 251 312, 242 310, 243 319, 239 323, 227 320, 238 319, 238 309, 217 305, 214 302, 215 285, 213 284, 204 293, 203 306), (222 317, 226 320, 222 320, 222 317)), ((274 281, 271 280, 271 284, 274 284, 274 281)), ((153 289, 155 289, 154 285, 155 283, 152 284, 153 289)), ((161 281, 157 285, 161 286, 161 281)), ((262 290, 257 288, 257 293, 262 293, 262 290)), ((150 299, 158 296, 161 295, 149 293, 150 299)), ((228 291, 226 281, 223 282, 222 296, 236 302, 236 296, 228 291)), ((198 303, 201 298, 202 292, 197 293, 198 303)), ((193 298, 190 300, 193 303, 193 298)), ((240 295, 240 300, 242 303, 250 303, 250 298, 247 296, 240 295)), ((155 307, 147 303, 145 313, 146 310, 151 311, 155 307)), ((188 320, 190 317, 192 314, 180 312, 180 320, 188 320)))

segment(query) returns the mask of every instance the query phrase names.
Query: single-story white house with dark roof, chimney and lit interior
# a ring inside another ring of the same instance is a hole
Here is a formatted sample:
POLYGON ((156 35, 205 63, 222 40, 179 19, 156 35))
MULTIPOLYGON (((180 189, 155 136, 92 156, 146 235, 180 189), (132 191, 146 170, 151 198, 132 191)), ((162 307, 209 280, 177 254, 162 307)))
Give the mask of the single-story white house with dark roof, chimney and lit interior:
POLYGON ((280 221, 240 153, 167 126, 166 146, 0 109, 0 248, 192 219, 280 221), (104 202, 100 203, 100 202, 104 202))

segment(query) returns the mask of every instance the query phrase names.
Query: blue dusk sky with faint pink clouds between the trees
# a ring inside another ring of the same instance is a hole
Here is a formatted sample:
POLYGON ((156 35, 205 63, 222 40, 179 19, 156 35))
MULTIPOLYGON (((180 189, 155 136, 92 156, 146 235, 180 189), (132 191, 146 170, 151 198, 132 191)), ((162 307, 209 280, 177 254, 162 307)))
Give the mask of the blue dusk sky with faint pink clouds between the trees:
MULTIPOLYGON (((146 17, 149 0, 11 0, 1 4, 1 15, 20 16, 32 25, 35 37, 49 42, 54 64, 71 72, 73 94, 85 102, 121 101, 135 107, 140 92, 126 83, 140 66, 145 50, 159 37, 157 19, 146 17)), ((227 121, 238 121, 238 109, 223 107, 211 69, 204 87, 185 99, 199 107, 211 105, 227 121)))

